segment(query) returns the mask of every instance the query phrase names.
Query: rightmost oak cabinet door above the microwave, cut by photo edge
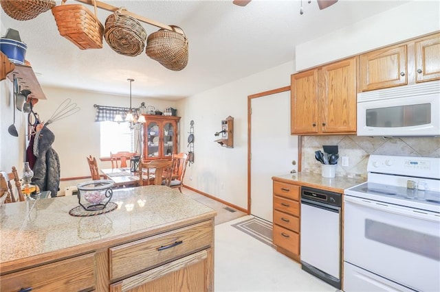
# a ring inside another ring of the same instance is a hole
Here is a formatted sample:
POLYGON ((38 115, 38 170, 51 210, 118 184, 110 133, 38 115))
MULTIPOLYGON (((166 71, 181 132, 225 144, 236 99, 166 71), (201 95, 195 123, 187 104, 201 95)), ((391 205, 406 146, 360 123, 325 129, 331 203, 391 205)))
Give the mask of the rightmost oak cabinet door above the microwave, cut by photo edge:
POLYGON ((416 82, 440 79, 440 34, 415 42, 415 62, 416 82))

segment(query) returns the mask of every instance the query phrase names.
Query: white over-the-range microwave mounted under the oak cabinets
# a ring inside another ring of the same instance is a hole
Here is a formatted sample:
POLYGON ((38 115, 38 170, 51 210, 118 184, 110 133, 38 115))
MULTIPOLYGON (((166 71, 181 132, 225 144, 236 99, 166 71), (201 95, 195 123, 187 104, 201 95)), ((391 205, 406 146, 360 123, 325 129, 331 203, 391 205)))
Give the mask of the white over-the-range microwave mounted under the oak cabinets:
POLYGON ((358 93, 358 136, 440 136, 440 81, 358 93))

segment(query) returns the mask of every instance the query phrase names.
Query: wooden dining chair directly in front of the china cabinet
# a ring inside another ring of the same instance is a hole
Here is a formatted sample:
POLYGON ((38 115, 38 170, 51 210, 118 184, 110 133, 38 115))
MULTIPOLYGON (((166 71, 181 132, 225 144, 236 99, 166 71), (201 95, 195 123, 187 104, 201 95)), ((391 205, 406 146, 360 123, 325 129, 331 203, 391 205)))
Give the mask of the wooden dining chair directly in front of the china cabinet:
POLYGON ((159 159, 139 162, 139 185, 165 185, 170 186, 173 160, 159 159), (146 175, 144 175, 146 173, 146 175), (146 178, 145 178, 146 177, 146 178))

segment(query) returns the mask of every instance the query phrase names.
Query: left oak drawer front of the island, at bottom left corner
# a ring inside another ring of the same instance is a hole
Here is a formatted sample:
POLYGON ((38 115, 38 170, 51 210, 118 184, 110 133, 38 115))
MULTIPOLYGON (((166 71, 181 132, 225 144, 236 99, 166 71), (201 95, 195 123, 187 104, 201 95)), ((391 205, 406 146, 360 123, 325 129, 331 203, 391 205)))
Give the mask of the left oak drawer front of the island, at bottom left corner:
POLYGON ((1 276, 0 291, 84 291, 96 289, 95 254, 85 254, 1 276))

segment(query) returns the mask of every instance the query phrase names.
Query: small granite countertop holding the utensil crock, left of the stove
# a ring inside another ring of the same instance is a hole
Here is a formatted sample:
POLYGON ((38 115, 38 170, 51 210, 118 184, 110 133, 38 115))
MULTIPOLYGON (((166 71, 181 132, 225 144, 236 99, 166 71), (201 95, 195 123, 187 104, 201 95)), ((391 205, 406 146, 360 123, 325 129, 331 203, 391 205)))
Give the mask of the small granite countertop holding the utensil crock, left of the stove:
POLYGON ((289 173, 286 175, 274 175, 272 177, 275 180, 281 180, 285 182, 295 182, 302 186, 310 186, 312 188, 321 188, 327 191, 333 191, 336 193, 344 193, 345 188, 350 188, 357 184, 362 184, 366 180, 361 178, 347 178, 337 176, 336 178, 322 178, 317 173, 289 173))

